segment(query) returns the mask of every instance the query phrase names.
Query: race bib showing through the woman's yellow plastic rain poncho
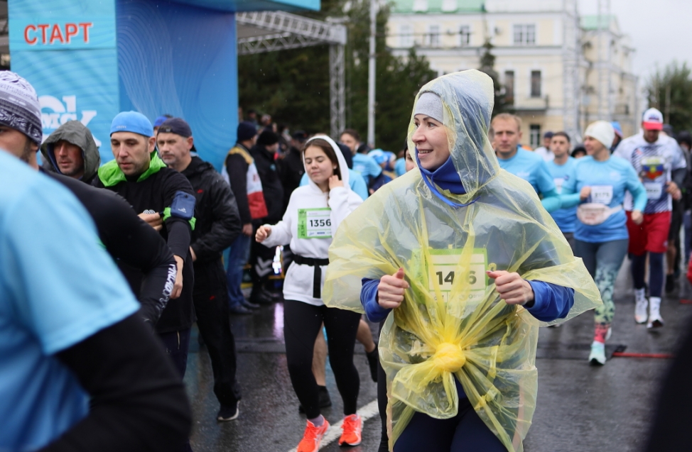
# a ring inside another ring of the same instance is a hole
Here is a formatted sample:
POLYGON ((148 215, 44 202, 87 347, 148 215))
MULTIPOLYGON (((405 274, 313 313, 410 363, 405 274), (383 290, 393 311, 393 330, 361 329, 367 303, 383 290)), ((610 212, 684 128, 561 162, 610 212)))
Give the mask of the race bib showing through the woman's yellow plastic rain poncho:
MULTIPOLYGON (((459 265, 462 250, 431 250, 431 262, 428 265, 428 290, 433 297, 435 287, 440 288, 445 302, 449 301, 450 292, 458 277, 463 277, 459 265)), ((471 265, 465 284, 470 286, 470 299, 482 299, 487 287, 487 256, 485 250, 474 250, 471 255, 471 265)))

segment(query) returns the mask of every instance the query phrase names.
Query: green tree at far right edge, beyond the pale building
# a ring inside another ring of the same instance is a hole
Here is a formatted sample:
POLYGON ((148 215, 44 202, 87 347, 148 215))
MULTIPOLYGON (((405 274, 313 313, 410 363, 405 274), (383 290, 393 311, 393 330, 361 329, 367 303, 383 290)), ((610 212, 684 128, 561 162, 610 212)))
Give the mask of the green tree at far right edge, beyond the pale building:
POLYGON ((647 83, 649 106, 661 110, 674 131, 692 130, 692 70, 686 62, 671 62, 656 70, 647 83))

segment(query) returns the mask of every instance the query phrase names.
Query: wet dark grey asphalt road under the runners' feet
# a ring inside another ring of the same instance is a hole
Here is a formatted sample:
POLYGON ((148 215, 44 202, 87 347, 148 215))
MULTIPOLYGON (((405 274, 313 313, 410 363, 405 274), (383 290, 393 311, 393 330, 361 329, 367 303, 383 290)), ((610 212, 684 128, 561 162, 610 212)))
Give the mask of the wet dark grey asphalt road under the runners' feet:
MULTIPOLYGON (((647 331, 634 324, 634 294, 629 262, 620 270, 615 288, 615 322, 607 352, 625 346, 626 352, 672 353, 681 332, 692 320, 692 305, 681 304, 679 290, 664 298, 661 314, 666 326, 647 331)), ((687 297, 683 294, 685 298, 687 297)), ((283 305, 263 307, 252 316, 232 316, 238 348, 238 379, 242 385, 240 416, 217 423, 219 408, 213 394, 209 356, 190 344, 185 384, 193 406, 190 442, 195 452, 288 452, 295 448, 305 428, 298 413, 283 350, 283 305)), ((372 326, 372 328, 376 328, 372 326)), ((603 367, 588 365, 593 338, 593 314, 587 312, 560 328, 540 331, 536 352, 539 394, 534 423, 524 441, 527 452, 639 451, 644 445, 654 409, 659 380, 669 359, 612 358, 603 367)), ((360 373, 358 406, 376 399, 362 346, 357 344, 355 363, 360 373)), ((342 404, 328 366, 327 385, 333 407, 323 415, 330 423, 342 419, 342 404)), ((379 414, 364 423, 360 446, 340 448, 336 441, 322 451, 377 451, 379 414)), ((338 438, 338 436, 337 436, 338 438)))

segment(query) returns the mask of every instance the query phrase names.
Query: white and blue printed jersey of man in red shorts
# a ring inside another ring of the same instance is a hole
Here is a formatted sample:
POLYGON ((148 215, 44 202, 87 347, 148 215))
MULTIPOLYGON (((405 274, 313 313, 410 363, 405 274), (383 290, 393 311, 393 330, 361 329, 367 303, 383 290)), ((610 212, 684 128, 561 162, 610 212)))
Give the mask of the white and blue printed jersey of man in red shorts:
MULTIPOLYGON (((666 184, 672 180, 672 172, 687 167, 685 155, 673 138, 661 134, 655 143, 648 143, 639 134, 622 140, 615 153, 627 160, 647 189, 647 206, 644 214, 658 214, 673 209, 666 184)), ((632 197, 625 197, 625 210, 632 211, 632 197)))

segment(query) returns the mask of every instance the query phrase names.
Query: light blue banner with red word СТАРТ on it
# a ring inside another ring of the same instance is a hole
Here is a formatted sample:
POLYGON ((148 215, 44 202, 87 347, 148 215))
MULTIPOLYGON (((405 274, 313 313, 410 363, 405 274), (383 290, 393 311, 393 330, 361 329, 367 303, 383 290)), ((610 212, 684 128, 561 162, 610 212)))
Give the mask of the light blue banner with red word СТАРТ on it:
POLYGON ((114 0, 9 0, 12 70, 36 89, 44 138, 63 123, 90 128, 103 162, 119 111, 114 0), (69 50, 69 51, 65 51, 69 50))

